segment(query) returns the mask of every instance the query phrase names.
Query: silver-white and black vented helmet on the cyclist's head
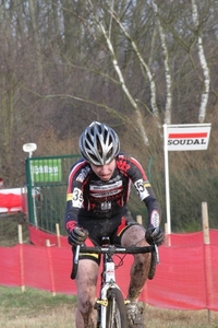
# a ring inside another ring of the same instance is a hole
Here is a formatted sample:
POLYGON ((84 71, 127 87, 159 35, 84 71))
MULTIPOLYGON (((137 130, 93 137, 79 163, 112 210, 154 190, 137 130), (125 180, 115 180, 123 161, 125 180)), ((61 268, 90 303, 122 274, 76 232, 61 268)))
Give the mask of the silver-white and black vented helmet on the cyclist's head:
POLYGON ((80 138, 82 156, 94 165, 110 163, 120 151, 120 141, 113 129, 93 121, 80 138))

